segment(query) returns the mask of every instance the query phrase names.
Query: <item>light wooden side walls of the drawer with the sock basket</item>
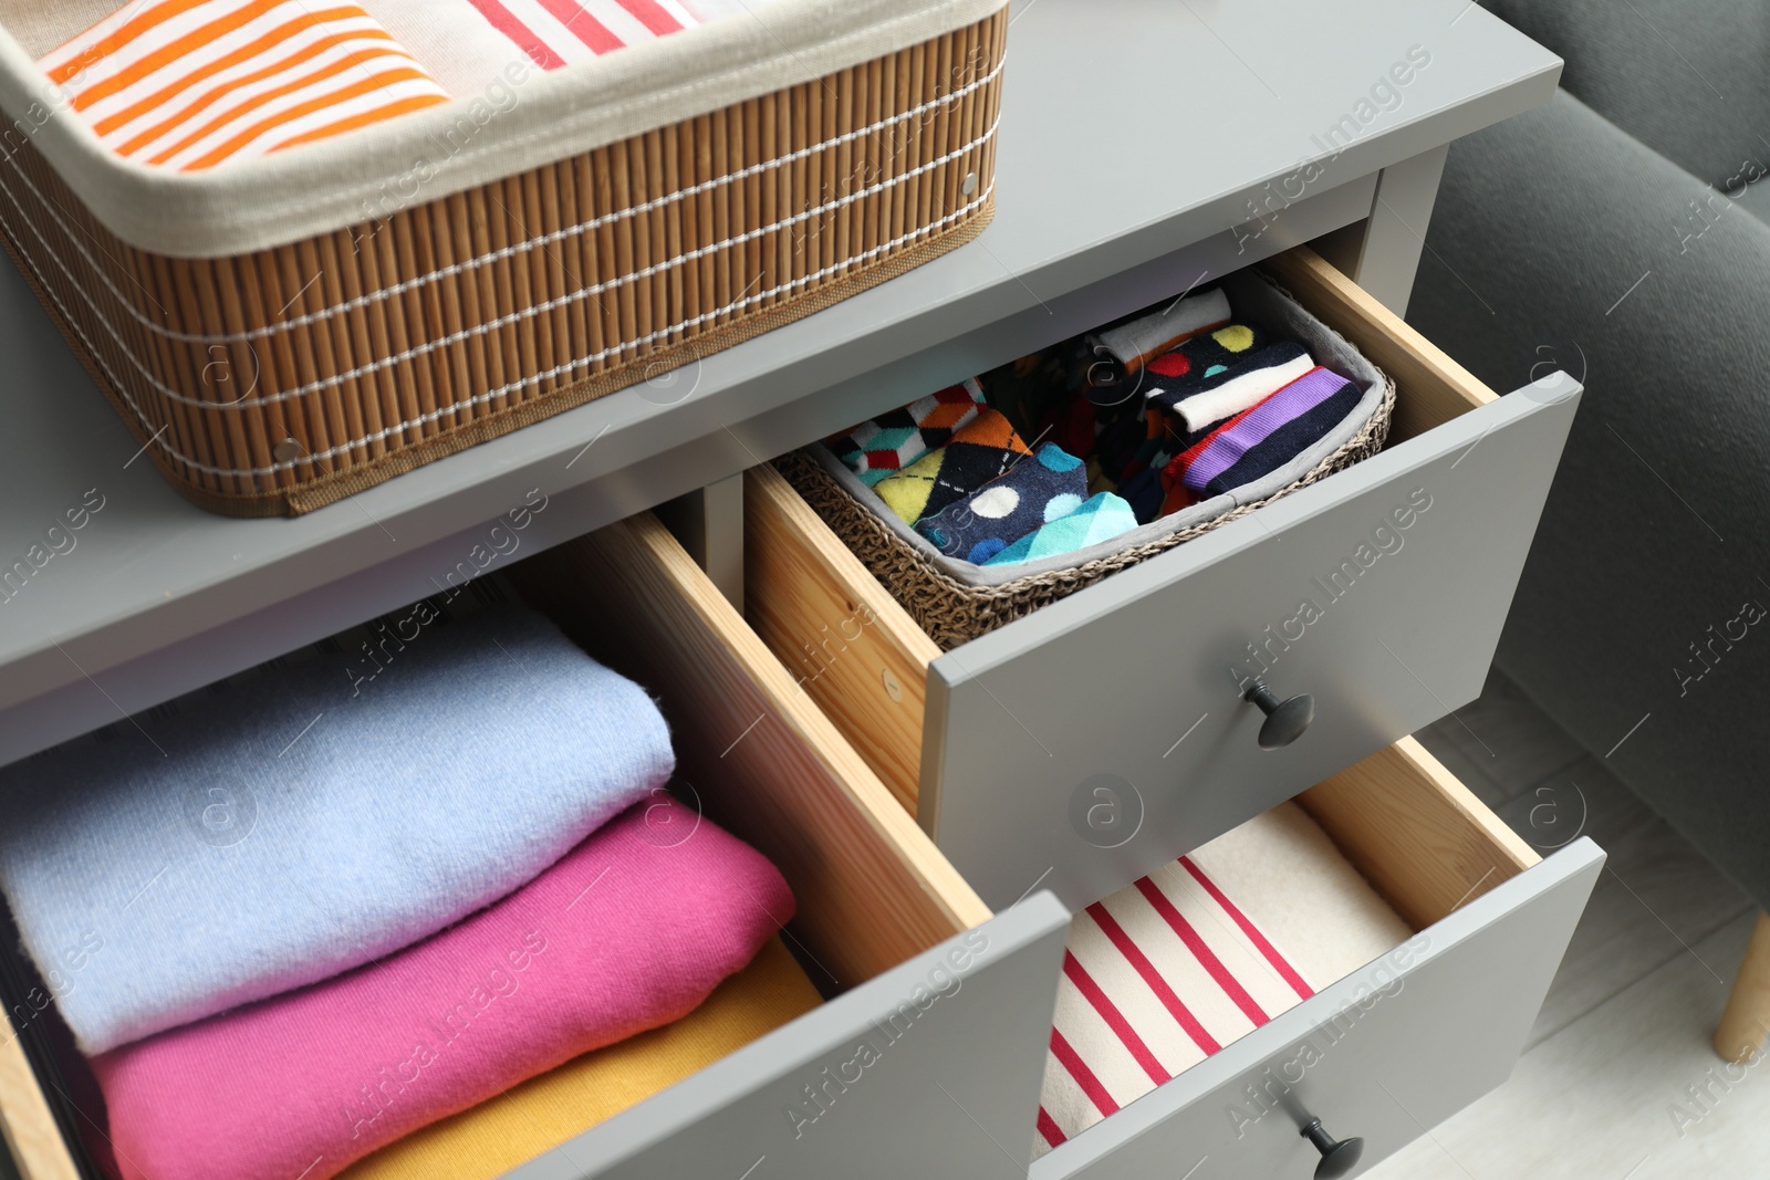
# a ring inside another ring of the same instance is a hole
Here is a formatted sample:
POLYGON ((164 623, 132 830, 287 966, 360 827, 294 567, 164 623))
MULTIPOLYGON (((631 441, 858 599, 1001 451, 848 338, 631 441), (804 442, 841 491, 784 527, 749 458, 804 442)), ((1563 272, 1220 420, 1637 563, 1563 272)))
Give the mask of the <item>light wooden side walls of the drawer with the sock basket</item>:
MULTIPOLYGON (((1397 382, 1389 446, 1496 398, 1308 248, 1260 267, 1397 382)), ((913 814, 933 639, 772 467, 745 476, 745 610, 763 642, 913 814)))

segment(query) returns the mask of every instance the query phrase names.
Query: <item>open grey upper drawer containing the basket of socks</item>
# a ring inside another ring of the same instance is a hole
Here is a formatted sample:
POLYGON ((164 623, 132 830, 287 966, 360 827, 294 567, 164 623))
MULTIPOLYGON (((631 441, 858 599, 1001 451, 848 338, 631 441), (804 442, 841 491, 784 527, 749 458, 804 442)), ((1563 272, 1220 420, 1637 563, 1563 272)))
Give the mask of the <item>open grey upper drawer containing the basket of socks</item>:
POLYGON ((1579 386, 1497 398, 1308 249, 1262 267, 1397 380, 1386 449, 952 651, 749 476, 750 621, 991 906, 1106 895, 1487 676, 1579 386), (1313 699, 1290 745, 1251 678, 1313 699))

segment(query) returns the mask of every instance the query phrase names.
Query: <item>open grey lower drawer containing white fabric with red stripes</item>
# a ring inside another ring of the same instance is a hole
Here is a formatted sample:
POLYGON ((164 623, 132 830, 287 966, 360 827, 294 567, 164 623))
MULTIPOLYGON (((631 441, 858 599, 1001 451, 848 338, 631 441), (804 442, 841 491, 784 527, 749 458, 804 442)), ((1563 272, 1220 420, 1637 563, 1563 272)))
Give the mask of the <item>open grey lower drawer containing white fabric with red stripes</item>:
POLYGON ((1414 936, 1032 1166, 1032 1180, 1304 1180, 1312 1120, 1358 1175, 1512 1072, 1604 867, 1540 860, 1412 738, 1297 796, 1414 936))

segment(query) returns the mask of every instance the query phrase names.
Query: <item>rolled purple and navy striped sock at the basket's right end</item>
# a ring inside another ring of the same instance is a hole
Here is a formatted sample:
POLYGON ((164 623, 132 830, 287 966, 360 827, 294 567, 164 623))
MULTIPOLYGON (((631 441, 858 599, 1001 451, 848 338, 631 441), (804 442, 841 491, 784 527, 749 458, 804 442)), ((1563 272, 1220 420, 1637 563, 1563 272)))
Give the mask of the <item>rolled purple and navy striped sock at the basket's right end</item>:
POLYGON ((1195 495, 1220 494, 1276 471, 1326 435, 1359 398, 1359 387, 1345 377, 1313 368, 1211 435, 1181 483, 1195 495))

